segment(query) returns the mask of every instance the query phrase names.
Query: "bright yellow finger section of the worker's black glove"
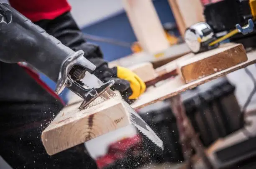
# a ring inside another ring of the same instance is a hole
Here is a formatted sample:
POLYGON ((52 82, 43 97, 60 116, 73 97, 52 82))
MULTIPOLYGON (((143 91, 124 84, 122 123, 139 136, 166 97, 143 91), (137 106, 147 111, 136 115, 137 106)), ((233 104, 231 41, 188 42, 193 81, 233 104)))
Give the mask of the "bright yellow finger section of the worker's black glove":
POLYGON ((135 73, 125 67, 117 67, 117 77, 130 82, 133 93, 129 99, 136 99, 146 90, 146 84, 135 73))

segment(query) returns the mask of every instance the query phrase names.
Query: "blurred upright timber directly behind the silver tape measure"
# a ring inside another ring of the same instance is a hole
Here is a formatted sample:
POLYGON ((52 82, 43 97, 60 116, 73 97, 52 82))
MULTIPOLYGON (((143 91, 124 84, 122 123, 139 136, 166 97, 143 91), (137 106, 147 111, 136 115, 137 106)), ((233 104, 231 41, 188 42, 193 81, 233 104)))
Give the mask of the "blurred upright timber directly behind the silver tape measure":
POLYGON ((179 32, 184 36, 187 27, 197 23, 205 22, 203 5, 200 0, 168 0, 178 25, 179 32))

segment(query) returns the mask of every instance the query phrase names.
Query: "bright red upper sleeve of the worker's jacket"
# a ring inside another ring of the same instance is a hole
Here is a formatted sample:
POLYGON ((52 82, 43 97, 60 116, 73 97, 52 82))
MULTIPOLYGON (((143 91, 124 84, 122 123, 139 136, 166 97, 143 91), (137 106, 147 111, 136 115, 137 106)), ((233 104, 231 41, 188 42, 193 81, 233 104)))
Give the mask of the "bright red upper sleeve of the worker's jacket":
POLYGON ((52 20, 71 10, 67 0, 9 0, 9 3, 32 22, 52 20))

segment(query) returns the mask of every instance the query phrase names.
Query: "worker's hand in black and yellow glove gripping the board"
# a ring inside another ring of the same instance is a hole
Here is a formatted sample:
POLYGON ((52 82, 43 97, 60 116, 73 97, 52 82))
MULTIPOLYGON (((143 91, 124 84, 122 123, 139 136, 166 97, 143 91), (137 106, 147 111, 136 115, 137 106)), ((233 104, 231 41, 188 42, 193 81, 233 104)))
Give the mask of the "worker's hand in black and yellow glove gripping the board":
POLYGON ((145 83, 131 70, 124 67, 108 68, 107 62, 100 58, 89 59, 96 70, 92 72, 103 82, 114 80, 115 84, 111 89, 118 90, 126 102, 132 103, 146 90, 145 83))

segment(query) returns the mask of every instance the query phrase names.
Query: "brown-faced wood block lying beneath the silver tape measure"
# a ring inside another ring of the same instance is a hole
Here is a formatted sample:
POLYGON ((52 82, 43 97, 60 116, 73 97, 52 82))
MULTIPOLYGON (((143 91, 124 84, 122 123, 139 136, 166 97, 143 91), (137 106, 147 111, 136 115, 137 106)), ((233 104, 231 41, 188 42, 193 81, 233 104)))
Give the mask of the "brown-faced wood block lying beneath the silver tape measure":
POLYGON ((230 43, 207 52, 185 55, 177 65, 178 72, 188 83, 246 61, 243 45, 230 43))

